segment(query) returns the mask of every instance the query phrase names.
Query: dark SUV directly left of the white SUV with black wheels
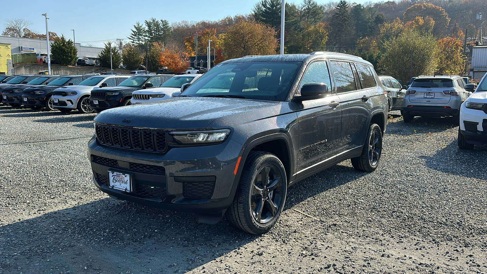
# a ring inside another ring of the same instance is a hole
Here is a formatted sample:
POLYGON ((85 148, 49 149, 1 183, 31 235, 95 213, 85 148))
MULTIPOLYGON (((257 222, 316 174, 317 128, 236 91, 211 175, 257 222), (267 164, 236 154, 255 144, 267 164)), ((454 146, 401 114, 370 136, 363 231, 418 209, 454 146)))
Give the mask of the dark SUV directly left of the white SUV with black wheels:
POLYGON ((41 109, 44 107, 48 111, 56 110, 51 101, 54 90, 63 86, 77 85, 87 78, 89 76, 61 76, 49 82, 48 85, 37 85, 26 88, 22 93, 22 103, 24 106, 32 109, 41 109))

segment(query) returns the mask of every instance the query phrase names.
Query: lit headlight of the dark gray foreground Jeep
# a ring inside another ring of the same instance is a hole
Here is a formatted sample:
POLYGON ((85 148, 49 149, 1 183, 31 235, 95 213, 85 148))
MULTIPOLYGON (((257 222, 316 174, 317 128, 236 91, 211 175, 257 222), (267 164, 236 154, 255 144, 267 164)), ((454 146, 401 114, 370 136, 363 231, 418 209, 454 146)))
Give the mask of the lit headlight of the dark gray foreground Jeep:
POLYGON ((230 130, 225 128, 204 131, 172 131, 169 134, 179 144, 209 144, 225 141, 228 134, 230 134, 230 130))

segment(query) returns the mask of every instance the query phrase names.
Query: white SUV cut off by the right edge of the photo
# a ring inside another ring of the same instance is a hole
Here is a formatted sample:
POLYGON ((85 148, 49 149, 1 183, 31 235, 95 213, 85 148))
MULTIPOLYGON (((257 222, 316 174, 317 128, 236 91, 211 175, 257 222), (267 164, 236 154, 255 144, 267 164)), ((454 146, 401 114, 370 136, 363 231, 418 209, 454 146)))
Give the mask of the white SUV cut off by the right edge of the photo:
MULTIPOLYGON (((473 85, 473 84, 469 84, 473 85)), ((460 108, 458 148, 473 149, 487 144, 487 78, 484 76, 475 92, 460 108)))

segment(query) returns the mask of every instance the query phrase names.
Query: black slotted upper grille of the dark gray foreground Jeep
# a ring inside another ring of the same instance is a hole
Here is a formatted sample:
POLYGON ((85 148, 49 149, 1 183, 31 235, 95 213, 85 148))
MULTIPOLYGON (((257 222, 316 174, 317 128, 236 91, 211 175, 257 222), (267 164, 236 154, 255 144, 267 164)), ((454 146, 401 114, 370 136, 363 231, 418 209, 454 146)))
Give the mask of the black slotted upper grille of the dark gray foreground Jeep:
POLYGON ((96 124, 95 133, 101 144, 117 148, 165 152, 167 147, 165 131, 96 124))

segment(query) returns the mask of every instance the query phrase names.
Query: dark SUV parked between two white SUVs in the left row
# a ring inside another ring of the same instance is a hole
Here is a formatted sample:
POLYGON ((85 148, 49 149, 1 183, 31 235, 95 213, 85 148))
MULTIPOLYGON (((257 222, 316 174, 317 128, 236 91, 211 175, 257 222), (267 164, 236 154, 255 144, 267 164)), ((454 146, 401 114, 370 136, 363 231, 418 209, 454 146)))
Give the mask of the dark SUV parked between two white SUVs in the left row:
POLYGON ((130 105, 132 91, 159 87, 173 76, 174 75, 166 74, 132 76, 118 84, 116 87, 102 88, 93 91, 90 96, 90 106, 95 112, 100 112, 109 108, 130 105))

